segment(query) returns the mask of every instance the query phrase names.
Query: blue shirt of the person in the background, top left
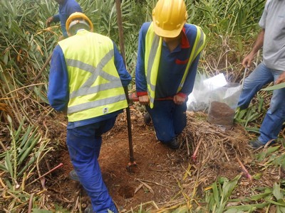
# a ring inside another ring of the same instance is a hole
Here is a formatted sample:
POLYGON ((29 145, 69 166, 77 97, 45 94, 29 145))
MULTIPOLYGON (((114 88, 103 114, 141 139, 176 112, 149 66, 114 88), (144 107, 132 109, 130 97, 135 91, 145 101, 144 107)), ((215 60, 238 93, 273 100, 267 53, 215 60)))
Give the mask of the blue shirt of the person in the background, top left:
POLYGON ((61 31, 64 38, 68 38, 66 31, 66 21, 72 13, 81 12, 81 6, 75 0, 66 0, 63 4, 58 6, 58 14, 53 16, 53 22, 61 21, 61 31))

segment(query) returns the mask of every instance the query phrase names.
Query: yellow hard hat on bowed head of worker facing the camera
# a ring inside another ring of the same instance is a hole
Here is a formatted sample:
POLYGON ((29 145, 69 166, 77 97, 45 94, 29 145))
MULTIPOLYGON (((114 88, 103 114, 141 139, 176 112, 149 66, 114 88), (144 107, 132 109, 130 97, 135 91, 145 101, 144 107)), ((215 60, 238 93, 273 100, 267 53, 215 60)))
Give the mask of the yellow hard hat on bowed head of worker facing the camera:
POLYGON ((152 10, 155 33, 165 38, 177 37, 187 20, 184 0, 158 0, 152 10))

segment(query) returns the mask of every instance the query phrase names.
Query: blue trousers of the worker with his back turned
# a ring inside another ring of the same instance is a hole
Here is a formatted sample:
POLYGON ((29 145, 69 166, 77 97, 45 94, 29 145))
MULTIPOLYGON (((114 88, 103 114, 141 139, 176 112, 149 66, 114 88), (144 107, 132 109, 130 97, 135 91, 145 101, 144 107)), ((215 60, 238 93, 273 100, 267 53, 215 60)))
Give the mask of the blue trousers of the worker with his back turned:
POLYGON ((93 211, 118 212, 103 182, 98 157, 102 143, 101 135, 113 128, 116 116, 95 124, 67 130, 67 146, 71 162, 78 178, 90 197, 93 211))

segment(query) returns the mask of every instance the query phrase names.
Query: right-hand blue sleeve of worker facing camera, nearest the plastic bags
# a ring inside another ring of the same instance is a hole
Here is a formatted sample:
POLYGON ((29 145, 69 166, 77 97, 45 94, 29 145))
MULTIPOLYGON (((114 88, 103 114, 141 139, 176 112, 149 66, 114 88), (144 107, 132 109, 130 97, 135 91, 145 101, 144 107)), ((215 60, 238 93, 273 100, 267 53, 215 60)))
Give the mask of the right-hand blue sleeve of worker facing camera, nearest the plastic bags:
POLYGON ((188 75, 185 79, 184 85, 180 92, 189 95, 194 87, 195 77, 197 74, 197 68, 199 63, 200 53, 197 55, 195 60, 193 60, 192 65, 189 68, 188 75))

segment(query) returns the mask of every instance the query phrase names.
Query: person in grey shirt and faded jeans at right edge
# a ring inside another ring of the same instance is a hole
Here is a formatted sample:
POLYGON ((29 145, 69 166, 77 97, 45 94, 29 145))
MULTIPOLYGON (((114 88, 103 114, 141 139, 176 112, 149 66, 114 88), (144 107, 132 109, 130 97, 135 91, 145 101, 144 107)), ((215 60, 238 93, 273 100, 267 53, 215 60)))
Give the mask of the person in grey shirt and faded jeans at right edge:
MULTIPOLYGON (((263 60, 244 80, 244 87, 239 98, 238 107, 246 109, 257 92, 269 82, 278 84, 283 81, 285 72, 285 1, 266 1, 264 12, 259 21, 261 31, 257 36, 252 51, 242 61, 249 67, 257 52, 263 48, 263 60)), ((260 136, 250 141, 249 145, 260 148, 272 143, 278 137, 285 121, 285 89, 273 91, 270 107, 259 129, 260 136)))

